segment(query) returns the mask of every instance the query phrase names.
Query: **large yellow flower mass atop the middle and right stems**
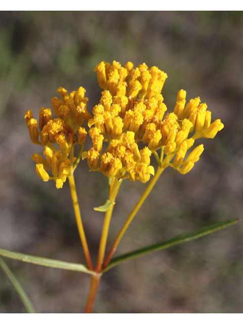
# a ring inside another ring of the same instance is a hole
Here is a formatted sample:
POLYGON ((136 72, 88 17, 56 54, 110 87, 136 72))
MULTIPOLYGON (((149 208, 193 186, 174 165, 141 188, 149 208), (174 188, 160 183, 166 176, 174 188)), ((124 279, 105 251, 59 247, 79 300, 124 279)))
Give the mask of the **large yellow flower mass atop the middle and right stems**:
POLYGON ((160 167, 171 166, 185 174, 204 150, 199 145, 184 159, 194 140, 213 138, 224 127, 220 119, 211 124, 211 112, 206 104, 200 104, 199 97, 185 105, 184 90, 177 95, 174 112, 163 119, 167 107, 160 92, 167 74, 155 66, 149 69, 143 63, 134 68, 131 62, 125 67, 116 61, 112 65, 101 62, 95 72, 104 91, 88 121, 93 147, 82 157, 88 159, 91 170, 109 178, 147 182, 150 174, 154 175, 151 153, 161 147, 166 157, 160 167), (109 145, 102 153, 106 141, 109 145), (144 144, 140 150, 139 142, 144 144))

